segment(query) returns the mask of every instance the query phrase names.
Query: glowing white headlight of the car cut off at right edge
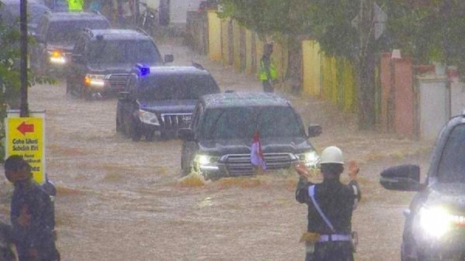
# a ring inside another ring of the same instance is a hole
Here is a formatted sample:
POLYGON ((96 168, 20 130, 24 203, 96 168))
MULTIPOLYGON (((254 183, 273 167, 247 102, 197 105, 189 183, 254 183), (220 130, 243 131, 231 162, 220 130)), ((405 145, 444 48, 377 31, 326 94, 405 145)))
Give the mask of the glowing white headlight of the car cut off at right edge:
POLYGON ((420 227, 432 237, 442 237, 450 230, 452 216, 441 207, 422 207, 419 216, 420 227))

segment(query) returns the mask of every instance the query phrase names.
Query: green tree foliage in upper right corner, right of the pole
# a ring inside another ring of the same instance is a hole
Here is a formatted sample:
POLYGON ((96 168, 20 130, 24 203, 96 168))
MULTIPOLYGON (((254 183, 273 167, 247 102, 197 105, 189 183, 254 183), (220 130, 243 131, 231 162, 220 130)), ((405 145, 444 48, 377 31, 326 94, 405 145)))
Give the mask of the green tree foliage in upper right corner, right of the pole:
POLYGON ((423 4, 397 0, 389 6, 388 29, 394 45, 414 57, 417 64, 462 64, 464 23, 463 0, 430 0, 423 4))

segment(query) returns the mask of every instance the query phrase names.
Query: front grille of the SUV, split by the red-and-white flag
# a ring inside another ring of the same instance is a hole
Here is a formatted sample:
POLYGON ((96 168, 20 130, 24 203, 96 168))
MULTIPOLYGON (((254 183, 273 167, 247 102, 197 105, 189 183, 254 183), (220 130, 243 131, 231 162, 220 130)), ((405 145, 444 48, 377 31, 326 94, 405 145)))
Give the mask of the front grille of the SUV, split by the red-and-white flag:
MULTIPOLYGON (((266 161, 266 170, 287 169, 295 161, 292 154, 287 153, 264 154, 263 156, 266 161)), ((220 161, 226 165, 231 175, 254 174, 250 154, 229 154, 222 156, 220 161)))

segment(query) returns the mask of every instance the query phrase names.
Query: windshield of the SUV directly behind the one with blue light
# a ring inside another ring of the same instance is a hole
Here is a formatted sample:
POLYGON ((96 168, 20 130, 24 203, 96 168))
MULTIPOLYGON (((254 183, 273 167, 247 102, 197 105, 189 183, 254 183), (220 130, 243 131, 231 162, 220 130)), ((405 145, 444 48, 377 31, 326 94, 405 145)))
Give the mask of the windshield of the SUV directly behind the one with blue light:
POLYGON ((96 40, 87 48, 92 64, 136 63, 153 64, 161 61, 151 40, 96 40))

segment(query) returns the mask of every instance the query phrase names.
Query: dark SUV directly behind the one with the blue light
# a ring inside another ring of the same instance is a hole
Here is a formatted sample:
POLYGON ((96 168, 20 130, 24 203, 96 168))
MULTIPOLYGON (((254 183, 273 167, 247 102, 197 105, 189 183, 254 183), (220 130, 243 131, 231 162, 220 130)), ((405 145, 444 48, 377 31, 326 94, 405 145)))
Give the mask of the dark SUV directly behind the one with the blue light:
POLYGON ((135 64, 163 65, 173 55, 160 55, 154 40, 141 29, 83 29, 66 75, 66 93, 101 98, 124 91, 135 64))

